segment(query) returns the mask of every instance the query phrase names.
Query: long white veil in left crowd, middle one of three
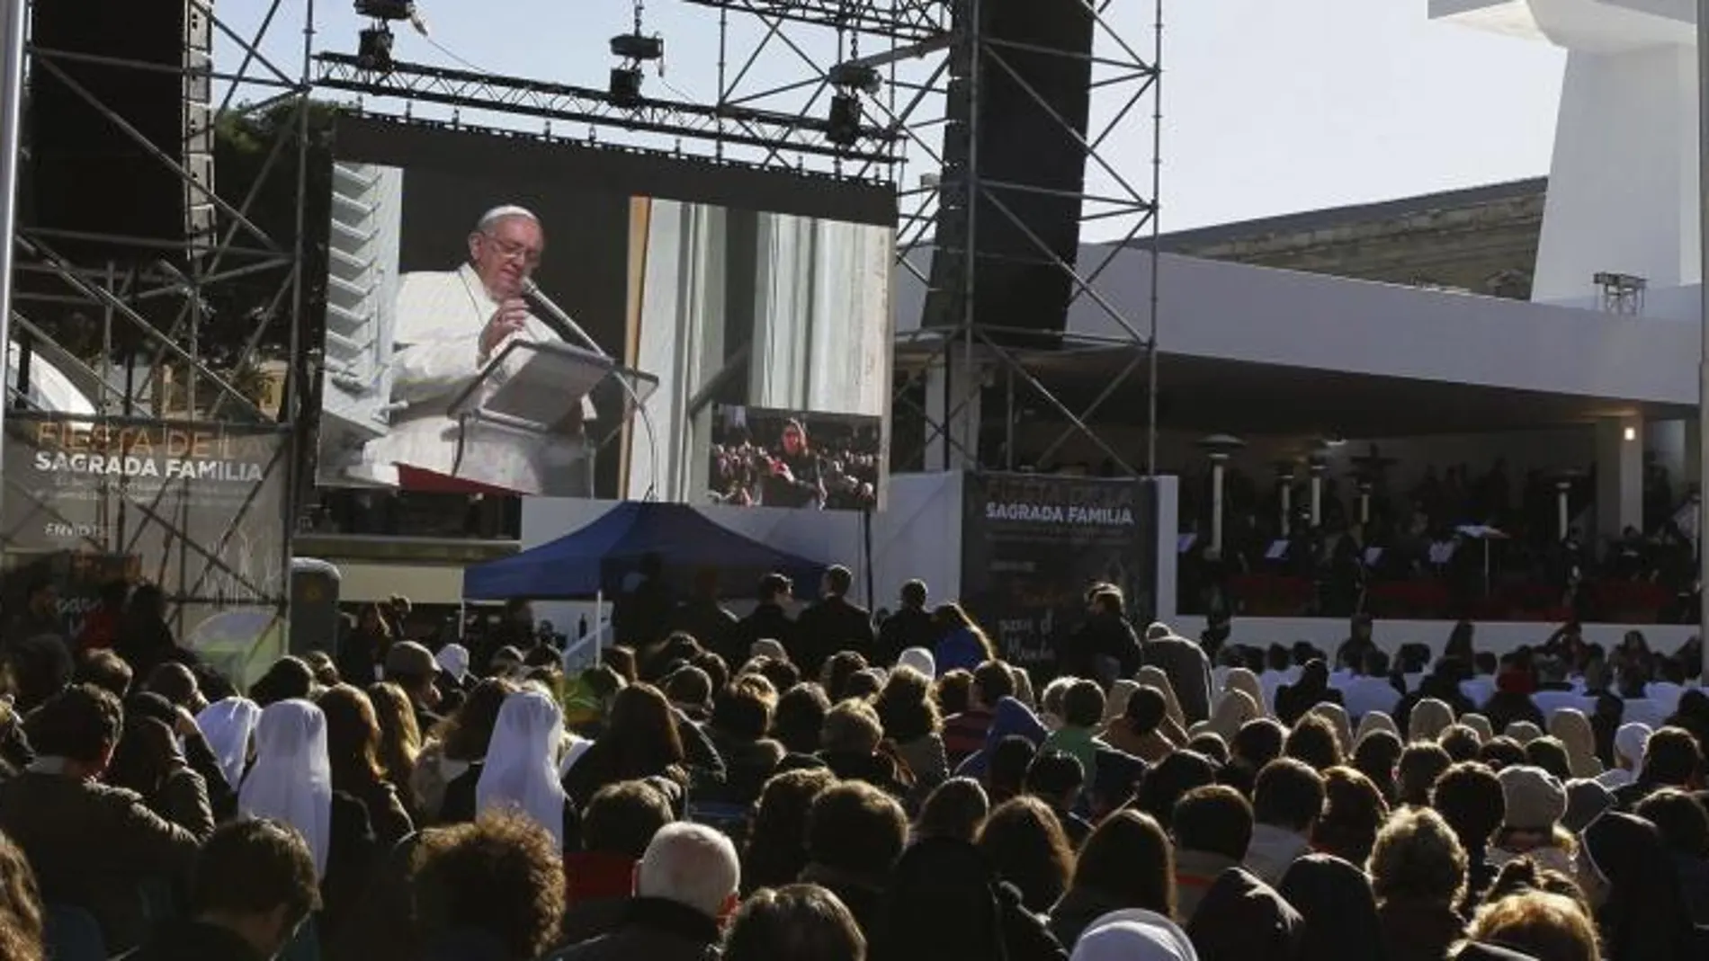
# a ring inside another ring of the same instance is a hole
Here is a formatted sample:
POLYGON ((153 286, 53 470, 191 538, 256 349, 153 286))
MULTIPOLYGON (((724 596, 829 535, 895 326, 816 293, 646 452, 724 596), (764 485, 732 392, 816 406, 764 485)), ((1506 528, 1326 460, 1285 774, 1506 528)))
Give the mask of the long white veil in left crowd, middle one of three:
POLYGON ((332 763, 326 760, 326 715, 306 700, 267 707, 255 727, 255 766, 238 790, 244 818, 272 818, 296 828, 314 855, 314 874, 326 874, 332 842, 332 763))

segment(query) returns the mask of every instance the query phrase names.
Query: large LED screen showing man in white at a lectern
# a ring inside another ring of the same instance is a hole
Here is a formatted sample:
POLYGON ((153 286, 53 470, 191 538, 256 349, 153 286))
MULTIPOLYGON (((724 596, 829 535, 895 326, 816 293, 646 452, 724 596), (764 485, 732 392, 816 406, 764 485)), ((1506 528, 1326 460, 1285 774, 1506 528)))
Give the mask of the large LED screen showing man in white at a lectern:
POLYGON ((878 505, 892 191, 374 119, 337 143, 321 485, 878 505))

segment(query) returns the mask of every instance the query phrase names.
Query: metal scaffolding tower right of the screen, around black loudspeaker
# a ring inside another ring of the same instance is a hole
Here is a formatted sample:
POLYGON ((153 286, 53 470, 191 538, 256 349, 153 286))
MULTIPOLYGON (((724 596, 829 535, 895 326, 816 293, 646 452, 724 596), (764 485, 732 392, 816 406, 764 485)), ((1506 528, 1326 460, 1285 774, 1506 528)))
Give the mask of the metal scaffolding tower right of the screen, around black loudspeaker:
MULTIPOLYGON (((899 461, 907 463, 913 456, 925 454, 935 440, 942 439, 945 442, 945 468, 952 463, 950 449, 954 449, 966 466, 1015 469, 1019 466, 1015 463, 1017 451, 1013 444, 1013 425, 1019 416, 1017 405, 1025 396, 1032 396, 1042 401, 1044 408, 1065 423, 1058 437, 1032 457, 1036 464, 1049 464, 1051 456, 1065 444, 1075 437, 1084 437, 1118 471, 1130 476, 1155 475, 1157 353, 1154 348, 1157 343, 1157 198, 1162 169, 1162 0, 1080 0, 1094 20, 1094 48, 1090 56, 983 36, 972 27, 972 24, 979 22, 979 7, 983 2, 988 0, 959 0, 957 5, 960 22, 957 24, 954 44, 960 51, 960 56, 966 58, 969 97, 978 102, 978 92, 984 80, 983 73, 991 70, 1003 73, 1032 101, 1031 106, 1042 109, 1061 128, 1061 135, 1078 145, 1085 160, 1089 183, 1087 189, 1078 196, 1082 254, 1075 263, 1068 263, 1051 251, 1031 225, 1015 213, 1013 203, 1017 198, 1025 195, 1061 196, 1060 191, 984 176, 978 150, 979 111, 972 109, 967 113, 964 123, 969 128, 969 143, 974 147, 969 150, 966 167, 960 174, 921 179, 919 184, 907 186, 901 193, 904 210, 897 237, 899 268, 909 271, 921 285, 930 287, 930 258, 945 253, 959 254, 960 270, 959 277, 952 278, 952 283, 960 283, 964 309, 955 323, 921 324, 918 329, 899 336, 899 357, 909 358, 909 362, 897 386, 892 408, 909 410, 926 418, 925 444, 918 452, 899 457, 899 461), (1085 133, 1077 131, 1037 89, 1025 82, 1013 65, 1015 53, 1063 56, 1090 65, 1092 106, 1085 133), (1150 147, 1150 169, 1143 171, 1143 176, 1125 172, 1109 157, 1109 149, 1116 138, 1135 133, 1142 135, 1143 142, 1150 147), (935 249, 933 230, 937 227, 937 210, 943 203, 954 203, 967 210, 967 239, 962 251, 935 249), (1116 333, 1113 336, 1063 333, 1058 347, 1048 352, 1008 347, 1003 341, 1005 336, 1031 335, 1036 338, 1041 331, 1003 329, 976 316, 974 270, 979 258, 969 254, 984 249, 979 237, 983 232, 993 230, 991 224, 981 222, 981 212, 995 212, 1000 222, 996 227, 1024 236, 1031 246, 1031 253, 1036 254, 1034 263, 1048 263, 1068 277, 1072 287, 1070 306, 1090 304, 1089 309, 1097 317, 1107 321, 1116 333), (1102 230, 1104 236, 1099 237, 1099 248, 1094 248, 1090 259, 1087 259, 1087 232, 1094 227, 1102 230), (1150 299, 1136 316, 1113 304, 1097 287, 1099 278, 1123 254, 1130 254, 1135 249, 1148 249, 1142 270, 1150 275, 1150 299), (1114 352, 1125 357, 1125 365, 1116 377, 1102 386, 1090 403, 1073 408, 1044 382, 1031 364, 1037 353, 1061 357, 1065 350, 1114 352), (921 352, 925 352, 923 358, 918 357, 921 352), (1001 418, 1008 427, 1008 442, 1003 446, 1005 454, 1001 463, 983 463, 979 451, 967 451, 948 430, 948 423, 964 416, 971 405, 984 406, 978 389, 959 391, 960 399, 937 418, 913 396, 914 389, 921 386, 921 381, 926 379, 933 367, 947 367, 950 379, 960 377, 962 382, 969 384, 979 382, 984 372, 1003 376, 1007 389, 1000 408, 1001 418), (1135 377, 1143 377, 1147 393, 1143 461, 1131 452, 1118 451, 1097 430, 1097 415, 1107 413, 1109 405, 1118 398, 1121 387, 1135 377)), ((923 92, 935 96, 938 104, 947 102, 947 92, 943 90, 947 75, 948 70, 943 65, 931 72, 921 87, 923 92)), ((937 131, 942 128, 943 121, 930 121, 919 116, 921 111, 930 109, 923 104, 923 99, 916 96, 902 108, 906 113, 901 116, 907 118, 904 128, 909 131, 937 131)), ((942 137, 937 142, 942 143, 942 137)), ((916 137, 913 143, 930 160, 940 167, 943 166, 942 150, 933 149, 930 140, 916 137)))

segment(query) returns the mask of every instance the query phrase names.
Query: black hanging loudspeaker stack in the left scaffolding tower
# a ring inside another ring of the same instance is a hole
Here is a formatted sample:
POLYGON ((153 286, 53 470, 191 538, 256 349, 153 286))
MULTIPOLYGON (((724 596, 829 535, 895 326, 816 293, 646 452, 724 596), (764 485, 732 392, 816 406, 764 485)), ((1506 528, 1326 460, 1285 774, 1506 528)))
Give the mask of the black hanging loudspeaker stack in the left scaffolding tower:
MULTIPOLYGON (((32 43, 32 225, 207 244, 214 205, 190 181, 214 186, 212 82, 205 75, 214 50, 212 0, 48 0, 36 3, 32 43), (188 179, 121 123, 181 166, 188 179)), ((183 261, 197 253, 116 239, 44 239, 79 263, 183 261)))

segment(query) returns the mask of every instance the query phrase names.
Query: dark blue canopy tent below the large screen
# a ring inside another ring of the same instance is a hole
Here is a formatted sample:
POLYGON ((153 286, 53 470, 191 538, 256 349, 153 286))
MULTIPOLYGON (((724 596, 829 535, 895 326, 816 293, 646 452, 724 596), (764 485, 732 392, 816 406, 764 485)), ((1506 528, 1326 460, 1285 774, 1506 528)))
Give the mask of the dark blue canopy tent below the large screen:
POLYGON ((769 548, 687 504, 624 502, 579 531, 520 555, 463 570, 470 601, 590 601, 622 594, 624 579, 656 556, 665 579, 685 591, 699 570, 718 570, 719 589, 750 596, 778 572, 817 587, 825 565, 769 548))

